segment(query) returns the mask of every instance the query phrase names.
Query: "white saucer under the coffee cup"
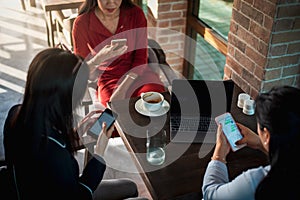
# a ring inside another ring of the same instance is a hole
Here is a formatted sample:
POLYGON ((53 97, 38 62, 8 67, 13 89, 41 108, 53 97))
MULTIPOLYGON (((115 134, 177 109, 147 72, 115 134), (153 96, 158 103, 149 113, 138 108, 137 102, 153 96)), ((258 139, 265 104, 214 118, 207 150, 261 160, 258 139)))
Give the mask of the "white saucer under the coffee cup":
POLYGON ((157 117, 157 116, 164 115, 169 111, 169 108, 170 108, 170 104, 166 100, 164 100, 161 109, 159 109, 157 111, 145 110, 141 99, 139 99, 135 102, 135 110, 138 113, 145 115, 145 116, 149 116, 149 117, 157 117))

